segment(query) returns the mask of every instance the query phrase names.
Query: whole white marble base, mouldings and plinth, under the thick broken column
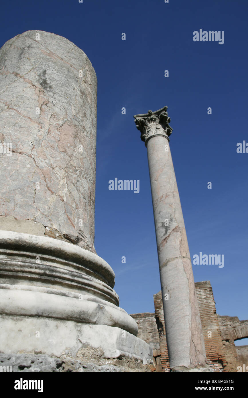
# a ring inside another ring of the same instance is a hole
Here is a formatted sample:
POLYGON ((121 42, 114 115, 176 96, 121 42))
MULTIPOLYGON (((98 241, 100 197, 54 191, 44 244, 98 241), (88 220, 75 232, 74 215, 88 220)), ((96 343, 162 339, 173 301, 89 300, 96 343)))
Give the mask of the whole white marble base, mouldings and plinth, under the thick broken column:
POLYGON ((102 359, 152 364, 152 348, 119 307, 114 277, 102 258, 78 246, 0 231, 0 353, 76 360, 82 349, 86 357, 100 349, 102 359))

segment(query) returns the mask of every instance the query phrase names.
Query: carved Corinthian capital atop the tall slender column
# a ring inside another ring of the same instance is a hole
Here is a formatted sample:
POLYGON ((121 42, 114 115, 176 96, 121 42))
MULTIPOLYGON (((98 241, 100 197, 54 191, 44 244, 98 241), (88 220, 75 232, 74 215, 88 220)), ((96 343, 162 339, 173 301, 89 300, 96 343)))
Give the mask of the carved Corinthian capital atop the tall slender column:
POLYGON ((170 117, 168 117, 167 106, 164 106, 158 111, 135 115, 135 124, 139 131, 141 131, 141 140, 145 141, 154 135, 163 135, 169 140, 172 133, 170 127, 170 117))

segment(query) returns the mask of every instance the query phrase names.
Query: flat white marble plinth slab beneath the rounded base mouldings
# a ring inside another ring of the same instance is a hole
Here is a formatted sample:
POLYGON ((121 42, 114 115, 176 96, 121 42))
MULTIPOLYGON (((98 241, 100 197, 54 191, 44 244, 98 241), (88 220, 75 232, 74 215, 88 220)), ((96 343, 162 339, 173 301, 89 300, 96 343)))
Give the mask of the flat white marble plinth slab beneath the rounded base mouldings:
POLYGON ((101 358, 128 357, 152 364, 152 348, 126 330, 107 326, 79 324, 44 317, 0 316, 0 352, 47 354, 51 357, 77 358, 80 351, 100 349, 101 358))

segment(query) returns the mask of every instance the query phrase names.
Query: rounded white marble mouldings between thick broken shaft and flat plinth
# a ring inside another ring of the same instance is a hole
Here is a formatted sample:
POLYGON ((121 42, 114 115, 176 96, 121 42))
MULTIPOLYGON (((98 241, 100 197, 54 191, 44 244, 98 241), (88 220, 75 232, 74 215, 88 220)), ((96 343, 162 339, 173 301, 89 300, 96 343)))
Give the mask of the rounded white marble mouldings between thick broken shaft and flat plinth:
POLYGON ((45 236, 0 231, 0 314, 117 326, 137 336, 119 308, 114 273, 96 254, 45 236))

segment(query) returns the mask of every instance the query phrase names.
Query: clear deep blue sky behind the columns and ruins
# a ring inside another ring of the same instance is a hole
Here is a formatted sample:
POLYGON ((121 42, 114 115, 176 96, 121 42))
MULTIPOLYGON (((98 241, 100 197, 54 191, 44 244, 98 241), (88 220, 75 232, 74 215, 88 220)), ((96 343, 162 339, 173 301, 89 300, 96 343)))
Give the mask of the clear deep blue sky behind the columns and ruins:
POLYGON ((154 312, 160 290, 147 154, 133 115, 167 105, 191 258, 225 256, 223 268, 193 265, 195 281, 211 281, 218 314, 248 319, 248 153, 236 152, 248 142, 247 8, 245 0, 1 5, 1 46, 27 30, 53 32, 80 47, 96 70, 95 246, 115 271, 129 313, 154 312), (224 44, 194 42, 199 29, 224 31, 224 44), (139 194, 109 191, 115 177, 139 179, 139 194))

